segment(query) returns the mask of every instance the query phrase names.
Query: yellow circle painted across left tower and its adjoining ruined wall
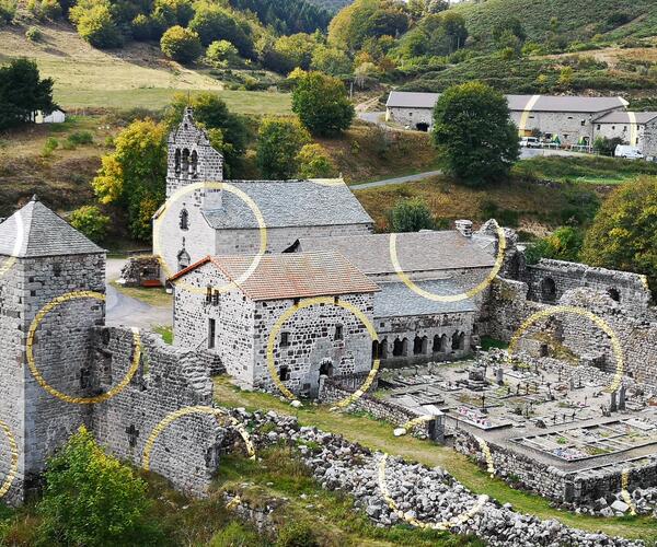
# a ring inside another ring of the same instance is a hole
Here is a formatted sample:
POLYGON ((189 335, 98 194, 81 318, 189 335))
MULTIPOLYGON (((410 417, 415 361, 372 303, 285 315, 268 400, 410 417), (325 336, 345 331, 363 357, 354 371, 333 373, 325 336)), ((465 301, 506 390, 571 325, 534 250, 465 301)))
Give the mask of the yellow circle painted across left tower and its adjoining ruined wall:
POLYGON ((65 302, 69 302, 71 300, 78 299, 94 299, 101 302, 105 301, 105 295, 100 292, 93 291, 78 291, 78 292, 69 292, 67 294, 62 294, 61 296, 57 296, 56 299, 48 302, 34 317, 32 324, 30 325, 30 331, 27 333, 27 366, 30 368, 30 372, 34 376, 34 379, 38 382, 38 384, 53 397, 57 397, 65 403, 70 403, 71 405, 95 405, 96 403, 104 403, 105 400, 111 399, 112 397, 118 395, 132 380, 132 376, 139 369, 139 361, 141 360, 141 336, 139 335, 139 329, 132 328, 132 339, 135 342, 135 352, 132 356, 132 364, 128 370, 126 376, 112 389, 102 395, 96 395, 94 397, 71 397, 70 395, 66 395, 58 389, 55 389, 50 384, 46 382, 46 380, 42 376, 41 372, 36 368, 36 363, 34 361, 34 335, 36 334, 36 329, 41 325, 44 317, 53 311, 55 307, 64 304, 65 302))

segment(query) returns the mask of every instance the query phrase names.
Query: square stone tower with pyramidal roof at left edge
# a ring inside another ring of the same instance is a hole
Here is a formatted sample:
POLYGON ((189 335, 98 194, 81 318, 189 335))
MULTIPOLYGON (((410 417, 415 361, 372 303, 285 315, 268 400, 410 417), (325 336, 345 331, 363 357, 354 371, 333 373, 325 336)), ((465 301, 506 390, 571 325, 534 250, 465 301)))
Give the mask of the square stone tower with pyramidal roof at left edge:
MULTIPOLYGON (((0 224, 0 420, 15 439, 18 469, 5 500, 20 503, 36 485, 46 458, 71 432, 88 423, 90 406, 66 401, 88 397, 91 341, 104 324, 102 300, 81 291, 105 292, 105 252, 71 228, 36 197, 0 224), (27 364, 31 324, 49 303, 32 346, 34 365, 51 389, 39 385, 27 364)), ((12 454, 0 434, 0 482, 12 454)))

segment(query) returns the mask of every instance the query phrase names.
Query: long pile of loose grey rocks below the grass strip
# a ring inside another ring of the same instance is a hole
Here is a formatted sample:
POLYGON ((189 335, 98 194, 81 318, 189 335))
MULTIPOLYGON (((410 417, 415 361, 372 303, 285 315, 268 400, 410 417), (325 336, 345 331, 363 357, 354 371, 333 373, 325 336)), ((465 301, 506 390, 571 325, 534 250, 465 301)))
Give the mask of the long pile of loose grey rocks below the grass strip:
POLYGON ((474 534, 492 546, 638 546, 642 542, 611 538, 569 528, 555 521, 541 521, 469 491, 443 469, 429 469, 397 457, 384 465, 384 488, 394 500, 391 508, 381 489, 381 453, 350 443, 316 428, 299 427, 293 417, 275 412, 235 410, 235 418, 253 426, 256 445, 286 442, 299 447, 314 478, 328 490, 351 494, 356 504, 381 526, 407 520, 428 526, 449 522, 454 534, 474 534), (266 433, 258 430, 267 424, 266 433), (461 515, 471 515, 464 519, 461 515))

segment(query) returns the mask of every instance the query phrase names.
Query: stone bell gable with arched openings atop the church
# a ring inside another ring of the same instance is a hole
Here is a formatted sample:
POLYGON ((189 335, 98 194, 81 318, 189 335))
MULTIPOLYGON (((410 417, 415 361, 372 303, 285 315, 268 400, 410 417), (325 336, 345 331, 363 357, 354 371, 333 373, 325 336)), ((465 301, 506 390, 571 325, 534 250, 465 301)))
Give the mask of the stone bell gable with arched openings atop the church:
POLYGON ((223 179, 223 156, 195 124, 191 107, 185 108, 181 125, 169 135, 168 144, 166 198, 187 184, 223 179))

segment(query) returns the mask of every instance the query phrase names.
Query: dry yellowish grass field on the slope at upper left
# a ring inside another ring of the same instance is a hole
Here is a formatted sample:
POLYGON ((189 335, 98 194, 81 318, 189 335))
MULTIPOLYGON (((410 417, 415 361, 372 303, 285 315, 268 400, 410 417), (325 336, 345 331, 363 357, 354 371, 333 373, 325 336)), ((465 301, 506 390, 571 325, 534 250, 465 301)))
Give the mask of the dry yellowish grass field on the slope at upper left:
POLYGON ((216 91, 229 107, 244 114, 289 112, 288 94, 228 91, 206 70, 191 70, 162 56, 150 44, 130 43, 120 50, 94 49, 65 23, 39 27, 38 43, 25 26, 0 27, 0 63, 14 57, 35 59, 42 75, 55 80, 55 101, 64 108, 157 109, 176 92, 216 91))

